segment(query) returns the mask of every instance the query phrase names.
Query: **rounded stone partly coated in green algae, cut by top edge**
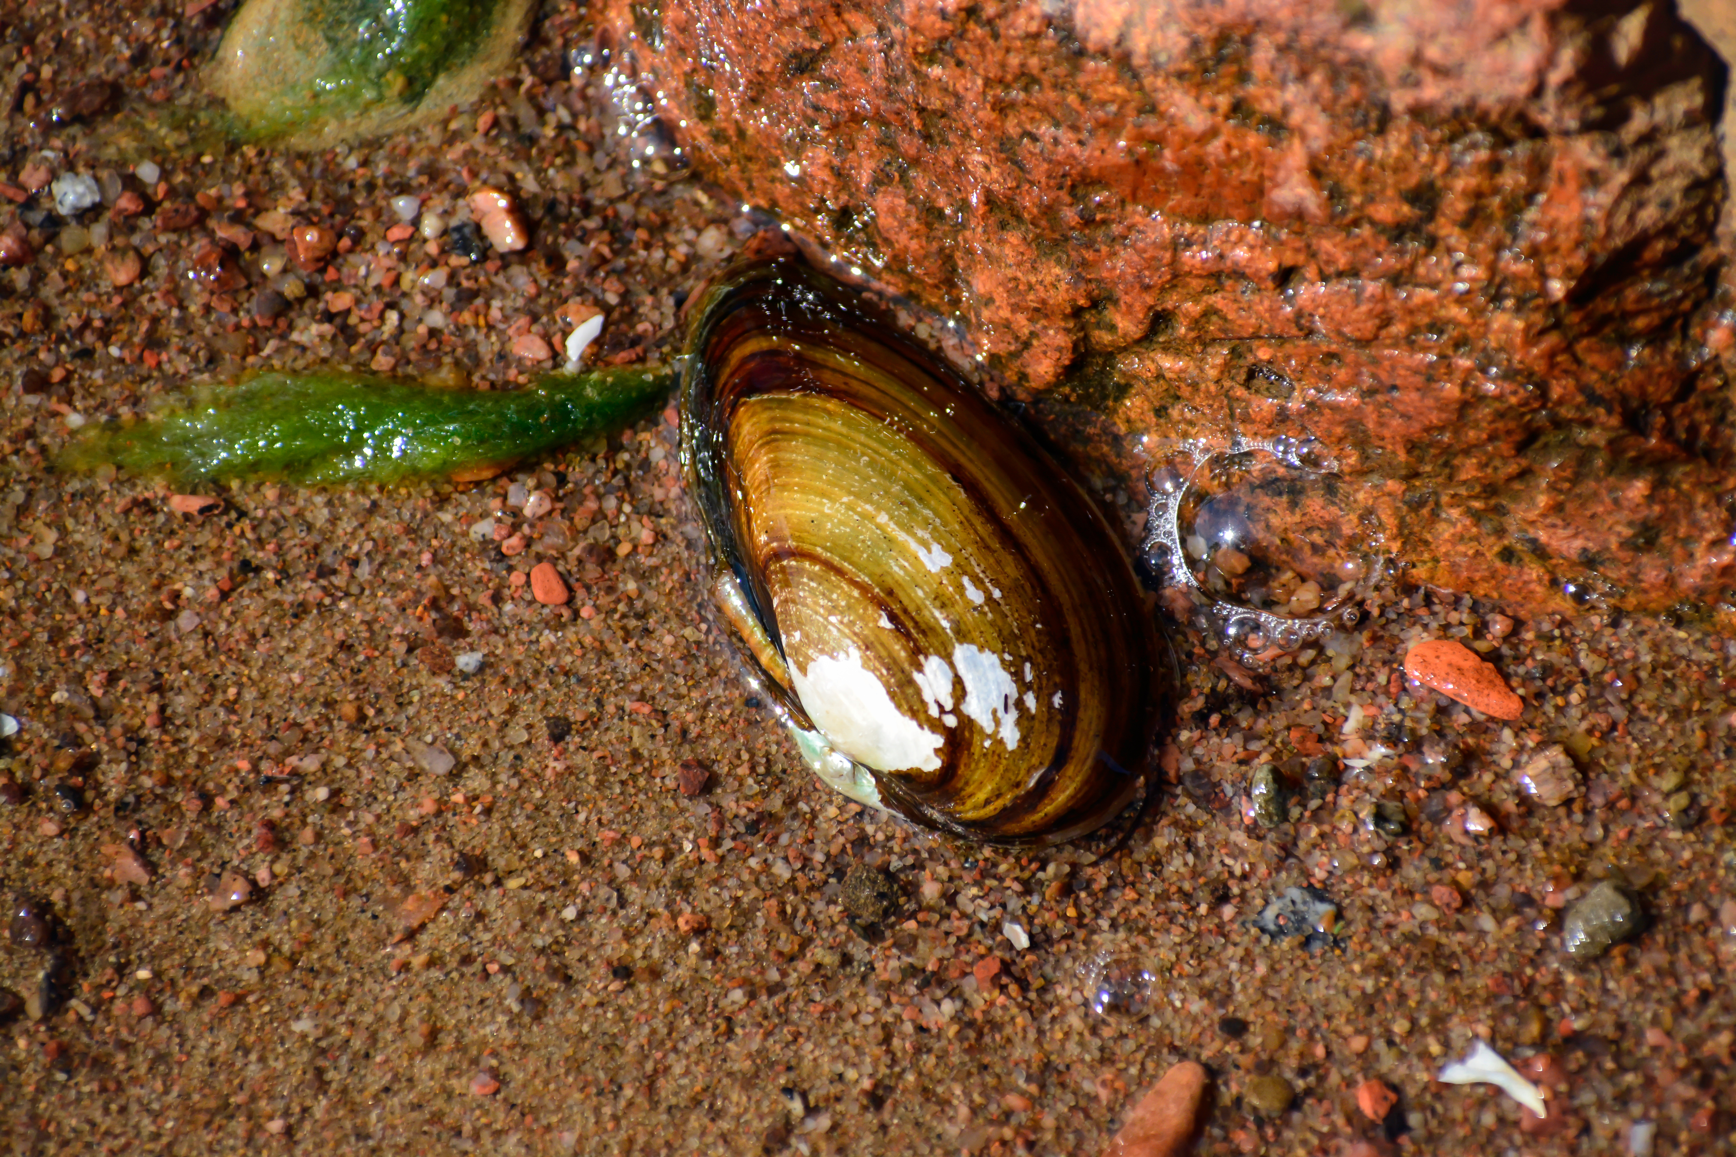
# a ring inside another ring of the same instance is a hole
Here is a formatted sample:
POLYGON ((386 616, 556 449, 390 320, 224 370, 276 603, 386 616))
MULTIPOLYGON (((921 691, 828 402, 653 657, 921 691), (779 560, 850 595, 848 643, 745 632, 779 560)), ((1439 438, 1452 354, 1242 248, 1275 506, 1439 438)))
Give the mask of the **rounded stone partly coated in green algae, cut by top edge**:
POLYGON ((233 135, 321 147, 465 104, 507 71, 529 0, 250 0, 205 85, 233 135))

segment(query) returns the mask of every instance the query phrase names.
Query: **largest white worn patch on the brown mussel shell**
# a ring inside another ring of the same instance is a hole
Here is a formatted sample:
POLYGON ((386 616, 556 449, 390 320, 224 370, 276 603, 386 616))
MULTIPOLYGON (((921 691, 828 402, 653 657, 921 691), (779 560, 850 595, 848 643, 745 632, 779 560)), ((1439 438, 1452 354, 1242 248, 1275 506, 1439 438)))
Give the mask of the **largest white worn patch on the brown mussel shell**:
POLYGON ((795 697, 832 746, 880 772, 932 772, 941 737, 899 713, 880 678, 863 666, 856 647, 819 656, 804 673, 790 664, 795 697))

